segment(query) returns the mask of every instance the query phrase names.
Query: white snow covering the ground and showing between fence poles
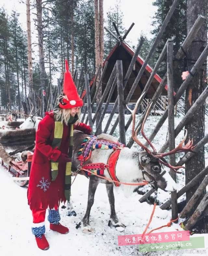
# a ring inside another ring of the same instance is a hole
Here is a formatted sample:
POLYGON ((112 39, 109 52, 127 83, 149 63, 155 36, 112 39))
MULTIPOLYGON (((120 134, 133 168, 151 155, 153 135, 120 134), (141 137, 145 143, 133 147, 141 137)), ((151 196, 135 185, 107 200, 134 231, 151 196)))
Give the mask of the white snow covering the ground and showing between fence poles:
MULTIPOLYGON (((106 115, 103 121, 103 127, 107 122, 109 115, 106 115)), ((117 115, 115 115, 114 119, 117 115)), ((126 115, 126 120, 128 119, 126 115)), ((159 117, 149 117, 145 131, 149 135, 154 128, 154 124, 159 120, 159 117)), ((179 123, 181 117, 175 118, 175 125, 179 123)), ((113 123, 113 121, 112 121, 113 123)), ((208 124, 206 122, 206 133, 208 124)), ((118 130, 115 132, 118 135, 118 130)), ((131 130, 127 131, 127 141, 131 136, 131 130)), ((154 145, 157 150, 163 145, 167 135, 167 122, 162 127, 161 132, 156 136, 154 145)), ((182 139, 183 133, 176 138, 176 144, 182 139)), ((206 165, 207 165, 207 147, 205 150, 206 165)), ((177 174, 180 175, 180 174, 177 174)), ((182 175, 182 174, 181 174, 182 175)), ((178 178, 179 187, 184 185, 184 178, 178 178)), ((73 179, 73 178, 72 178, 73 179)), ((46 213, 46 237, 50 248, 47 251, 41 251, 37 248, 35 239, 31 232, 32 214, 27 205, 27 188, 19 187, 6 173, 6 170, 0 169, 0 195, 1 195, 1 211, 0 211, 0 255, 21 255, 21 256, 64 256, 64 255, 141 255, 138 251, 138 246, 118 246, 118 235, 141 234, 148 221, 153 206, 148 203, 140 203, 138 200, 141 197, 137 193, 133 193, 129 198, 125 198, 123 193, 115 191, 115 208, 120 221, 126 225, 124 232, 119 232, 115 228, 108 227, 110 218, 110 206, 108 202, 107 192, 104 184, 99 184, 95 194, 95 202, 91 210, 90 225, 95 228, 94 233, 83 233, 81 228, 76 229, 78 224, 85 214, 88 194, 88 179, 78 175, 75 182, 72 184, 72 200, 74 210, 77 216, 66 216, 65 210, 59 207, 61 215, 61 223, 69 227, 70 232, 62 235, 49 230, 46 213)), ((164 201, 169 198, 169 193, 160 190, 159 200, 164 201)), ((62 204, 61 204, 62 205, 62 204)), ((156 207, 156 211, 149 230, 165 225, 171 219, 171 211, 161 210, 156 207)), ((160 232, 171 232, 182 230, 179 223, 172 224, 171 227, 165 227, 160 232)), ((194 234, 195 236, 204 236, 205 248, 208 252, 208 234, 194 234)), ((182 253, 182 255, 190 255, 190 253, 182 253)), ((176 252, 164 253, 164 255, 175 255, 176 252)), ((155 255, 160 255, 161 253, 155 255)), ((191 255, 200 255, 201 253, 191 253, 191 255)), ((153 255, 152 253, 149 255, 153 255)))

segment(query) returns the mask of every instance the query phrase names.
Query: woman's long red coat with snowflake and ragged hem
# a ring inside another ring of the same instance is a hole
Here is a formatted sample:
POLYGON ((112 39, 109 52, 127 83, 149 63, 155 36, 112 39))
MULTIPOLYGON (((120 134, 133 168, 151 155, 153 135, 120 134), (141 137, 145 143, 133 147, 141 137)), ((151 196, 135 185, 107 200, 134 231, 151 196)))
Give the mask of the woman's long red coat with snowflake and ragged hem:
MULTIPOLYGON (((69 149, 70 126, 63 124, 63 136, 60 150, 51 147, 54 138, 54 114, 46 112, 39 122, 35 138, 35 150, 32 157, 30 180, 28 186, 28 204, 32 209, 52 209, 64 196, 66 163, 59 163, 59 173, 55 181, 51 181, 50 160, 57 161, 61 152, 67 154, 69 149)), ((90 134, 91 128, 83 123, 74 125, 74 129, 90 134)))

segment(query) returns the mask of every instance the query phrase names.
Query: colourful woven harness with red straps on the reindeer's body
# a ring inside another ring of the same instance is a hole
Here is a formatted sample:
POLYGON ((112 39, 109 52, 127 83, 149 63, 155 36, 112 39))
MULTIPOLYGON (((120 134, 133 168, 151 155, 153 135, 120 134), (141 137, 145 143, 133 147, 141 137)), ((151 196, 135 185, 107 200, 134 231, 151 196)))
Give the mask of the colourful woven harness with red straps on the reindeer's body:
MULTIPOLYGON (((115 169, 119 158, 119 154, 123 147, 125 147, 125 145, 120 142, 116 143, 109 140, 98 139, 97 136, 90 135, 83 140, 80 150, 77 153, 77 159, 80 161, 80 165, 83 169, 90 170, 91 172, 97 175, 104 175, 104 170, 107 169, 111 179, 113 181, 119 181, 116 177, 115 169), (109 156, 108 163, 93 163, 84 165, 84 162, 91 157, 92 151, 95 149, 113 149, 113 152, 109 156)), ((88 177, 93 174, 89 173, 88 171, 85 171, 85 175, 88 177)), ((119 183, 114 184, 116 186, 120 186, 119 183)))

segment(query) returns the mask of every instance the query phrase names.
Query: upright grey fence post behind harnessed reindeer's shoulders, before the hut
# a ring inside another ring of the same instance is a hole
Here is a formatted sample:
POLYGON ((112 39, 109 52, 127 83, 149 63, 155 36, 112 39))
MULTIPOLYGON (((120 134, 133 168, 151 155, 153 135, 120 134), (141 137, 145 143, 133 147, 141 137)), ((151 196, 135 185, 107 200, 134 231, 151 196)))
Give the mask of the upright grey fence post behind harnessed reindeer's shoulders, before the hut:
POLYGON ((116 61, 116 69, 117 69, 118 111, 119 111, 118 116, 119 116, 120 142, 123 144, 126 144, 122 60, 116 61))

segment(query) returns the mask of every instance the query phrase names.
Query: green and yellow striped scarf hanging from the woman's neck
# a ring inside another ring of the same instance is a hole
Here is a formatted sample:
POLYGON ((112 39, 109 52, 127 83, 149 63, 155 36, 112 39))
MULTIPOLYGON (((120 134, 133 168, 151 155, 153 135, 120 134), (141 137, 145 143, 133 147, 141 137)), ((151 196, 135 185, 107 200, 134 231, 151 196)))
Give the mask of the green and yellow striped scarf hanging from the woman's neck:
MULTIPOLYGON (((63 123, 61 123, 61 119, 57 120, 56 114, 54 115, 55 119, 55 129, 54 129, 54 139, 52 142, 52 148, 58 147, 60 148, 61 140, 63 136, 63 123)), ((69 158, 72 158, 72 150, 73 150, 73 124, 78 120, 78 116, 75 115, 74 117, 70 116, 70 120, 68 122, 68 126, 70 126, 70 140, 69 140, 69 151, 68 155, 69 158)), ((59 162, 54 162, 51 160, 51 177, 52 181, 55 181, 58 172, 59 172, 59 162)), ((64 194, 67 201, 70 201, 70 192, 71 192, 71 169, 72 169, 72 162, 66 163, 66 171, 65 171, 65 187, 64 187, 64 194)))

